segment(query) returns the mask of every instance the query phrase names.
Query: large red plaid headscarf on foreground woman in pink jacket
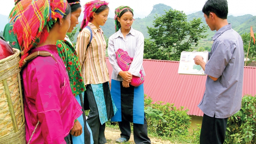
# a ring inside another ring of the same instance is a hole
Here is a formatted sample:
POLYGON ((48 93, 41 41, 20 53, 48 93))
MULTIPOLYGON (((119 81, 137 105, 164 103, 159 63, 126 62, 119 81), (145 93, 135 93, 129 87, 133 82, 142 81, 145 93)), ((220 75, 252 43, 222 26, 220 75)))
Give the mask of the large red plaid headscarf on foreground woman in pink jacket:
POLYGON ((22 50, 20 67, 29 50, 44 42, 49 28, 64 16, 67 4, 66 0, 21 0, 15 5, 9 18, 22 50))

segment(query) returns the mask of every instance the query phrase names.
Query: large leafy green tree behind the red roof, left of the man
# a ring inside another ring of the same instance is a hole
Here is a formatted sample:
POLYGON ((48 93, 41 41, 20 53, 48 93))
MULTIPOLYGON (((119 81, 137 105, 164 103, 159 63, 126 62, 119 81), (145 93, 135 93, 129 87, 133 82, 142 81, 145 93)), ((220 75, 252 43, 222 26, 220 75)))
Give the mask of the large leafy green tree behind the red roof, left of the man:
POLYGON ((160 60, 180 60, 182 51, 189 51, 192 44, 198 45, 207 35, 207 26, 201 18, 187 21, 183 11, 169 10, 155 17, 153 27, 147 27, 150 39, 145 39, 144 58, 160 60))

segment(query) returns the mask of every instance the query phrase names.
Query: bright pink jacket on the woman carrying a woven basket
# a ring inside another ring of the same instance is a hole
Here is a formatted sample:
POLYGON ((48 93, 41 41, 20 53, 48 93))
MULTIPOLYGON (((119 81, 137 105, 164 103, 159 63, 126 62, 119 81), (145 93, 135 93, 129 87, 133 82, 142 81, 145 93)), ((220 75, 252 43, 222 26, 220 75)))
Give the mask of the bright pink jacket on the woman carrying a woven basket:
POLYGON ((40 121, 30 144, 66 144, 74 120, 82 114, 69 84, 65 65, 58 55, 56 45, 45 45, 32 50, 48 51, 52 57, 38 56, 24 68, 24 109, 26 141, 40 121))

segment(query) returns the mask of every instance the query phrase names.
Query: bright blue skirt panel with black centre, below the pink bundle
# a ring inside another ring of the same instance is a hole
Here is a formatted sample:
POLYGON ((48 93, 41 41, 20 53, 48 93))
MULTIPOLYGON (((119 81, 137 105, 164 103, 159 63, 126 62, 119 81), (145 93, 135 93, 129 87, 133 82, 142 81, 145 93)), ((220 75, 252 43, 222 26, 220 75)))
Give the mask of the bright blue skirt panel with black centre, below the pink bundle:
POLYGON ((125 88, 122 82, 112 79, 111 96, 117 107, 117 112, 111 121, 127 120, 135 124, 144 124, 143 84, 125 88))

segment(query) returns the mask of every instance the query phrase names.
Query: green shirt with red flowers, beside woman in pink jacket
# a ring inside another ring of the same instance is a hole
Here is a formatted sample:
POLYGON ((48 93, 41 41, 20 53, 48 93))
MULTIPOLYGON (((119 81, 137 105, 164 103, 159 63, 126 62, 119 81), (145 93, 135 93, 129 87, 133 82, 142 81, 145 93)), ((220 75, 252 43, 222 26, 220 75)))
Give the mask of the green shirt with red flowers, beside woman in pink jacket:
POLYGON ((58 40, 56 45, 58 54, 66 66, 73 96, 77 96, 86 89, 75 48, 67 36, 63 41, 58 40))

